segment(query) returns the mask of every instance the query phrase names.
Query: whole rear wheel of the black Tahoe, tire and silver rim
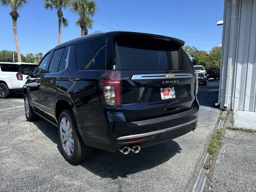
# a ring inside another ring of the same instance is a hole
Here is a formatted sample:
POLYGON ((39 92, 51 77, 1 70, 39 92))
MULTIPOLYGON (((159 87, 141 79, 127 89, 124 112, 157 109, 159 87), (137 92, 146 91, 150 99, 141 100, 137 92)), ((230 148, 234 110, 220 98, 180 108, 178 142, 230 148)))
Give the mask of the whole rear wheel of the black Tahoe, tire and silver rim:
POLYGON ((83 161, 92 154, 92 147, 84 144, 78 132, 71 110, 64 110, 60 114, 58 121, 58 140, 62 156, 70 163, 83 161))

